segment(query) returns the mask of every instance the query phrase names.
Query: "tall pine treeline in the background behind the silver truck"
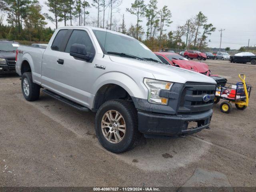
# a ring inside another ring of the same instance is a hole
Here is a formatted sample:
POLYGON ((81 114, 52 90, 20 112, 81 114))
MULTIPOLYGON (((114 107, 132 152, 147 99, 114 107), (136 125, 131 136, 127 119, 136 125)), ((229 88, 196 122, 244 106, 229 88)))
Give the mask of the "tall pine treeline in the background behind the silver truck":
POLYGON ((45 4, 50 14, 41 13, 38 0, 0 0, 0 38, 47 42, 55 30, 46 28, 47 22, 52 22, 56 28, 62 22, 65 26, 90 25, 118 31, 141 40, 152 50, 185 48, 186 42, 182 39, 186 38, 188 48, 207 47, 207 38, 216 28, 202 12, 175 30, 167 31, 172 24, 172 12, 168 6, 158 8, 157 3, 157 0, 150 0, 148 4, 135 0, 126 8, 126 14, 117 19, 122 0, 47 0, 45 4), (90 7, 97 10, 96 15, 90 15, 90 7), (129 26, 125 20, 128 14, 136 17, 129 26), (5 18, 8 24, 3 22, 5 18), (142 27, 142 22, 146 23, 146 28, 142 27))

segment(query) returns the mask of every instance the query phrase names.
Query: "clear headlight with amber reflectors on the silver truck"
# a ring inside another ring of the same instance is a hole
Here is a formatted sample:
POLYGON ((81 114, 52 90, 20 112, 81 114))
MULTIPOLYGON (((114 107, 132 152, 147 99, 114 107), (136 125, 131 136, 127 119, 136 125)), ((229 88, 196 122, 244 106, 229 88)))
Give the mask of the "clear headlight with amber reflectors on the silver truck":
POLYGON ((148 102, 162 105, 168 104, 168 98, 160 97, 159 93, 160 90, 170 90, 173 83, 147 78, 144 78, 143 82, 148 88, 148 102))

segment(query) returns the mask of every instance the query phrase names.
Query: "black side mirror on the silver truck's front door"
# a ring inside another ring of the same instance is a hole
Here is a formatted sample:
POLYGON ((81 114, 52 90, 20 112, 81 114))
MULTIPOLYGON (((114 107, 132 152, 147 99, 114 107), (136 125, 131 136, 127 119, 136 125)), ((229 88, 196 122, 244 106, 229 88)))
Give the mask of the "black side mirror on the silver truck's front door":
POLYGON ((73 56, 75 59, 85 61, 90 61, 92 59, 91 54, 88 54, 86 51, 86 46, 78 43, 72 44, 70 47, 70 56, 73 56))

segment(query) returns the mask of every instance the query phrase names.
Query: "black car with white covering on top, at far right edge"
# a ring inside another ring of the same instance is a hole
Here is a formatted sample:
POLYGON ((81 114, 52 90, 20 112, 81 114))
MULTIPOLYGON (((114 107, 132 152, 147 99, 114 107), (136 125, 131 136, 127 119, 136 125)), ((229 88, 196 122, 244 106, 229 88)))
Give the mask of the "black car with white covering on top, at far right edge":
POLYGON ((230 62, 232 63, 251 63, 256 65, 256 55, 250 52, 242 52, 235 54, 234 56, 230 56, 230 62))

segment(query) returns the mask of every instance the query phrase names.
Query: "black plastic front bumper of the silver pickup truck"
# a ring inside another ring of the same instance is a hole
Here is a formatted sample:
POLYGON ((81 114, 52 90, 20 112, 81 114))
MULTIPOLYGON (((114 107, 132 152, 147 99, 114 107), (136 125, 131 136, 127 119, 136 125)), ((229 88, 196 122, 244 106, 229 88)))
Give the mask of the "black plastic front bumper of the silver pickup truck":
POLYGON ((210 125, 212 109, 199 114, 165 115, 138 111, 139 131, 147 135, 184 136, 199 132, 210 125), (188 129, 189 122, 197 126, 188 129))

